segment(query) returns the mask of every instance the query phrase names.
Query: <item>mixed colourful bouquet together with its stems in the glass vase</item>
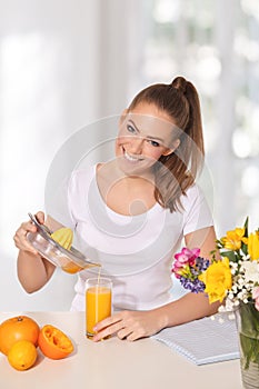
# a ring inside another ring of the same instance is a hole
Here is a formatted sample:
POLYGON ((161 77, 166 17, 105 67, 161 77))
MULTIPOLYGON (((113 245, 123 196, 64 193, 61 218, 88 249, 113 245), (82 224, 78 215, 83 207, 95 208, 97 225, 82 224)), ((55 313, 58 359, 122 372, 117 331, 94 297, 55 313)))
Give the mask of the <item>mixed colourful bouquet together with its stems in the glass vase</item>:
POLYGON ((216 250, 209 260, 199 249, 183 248, 172 272, 183 288, 206 292, 210 303, 222 302, 219 311, 239 311, 241 359, 246 368, 257 363, 259 371, 259 229, 249 233, 247 218, 242 228, 216 241, 216 250))

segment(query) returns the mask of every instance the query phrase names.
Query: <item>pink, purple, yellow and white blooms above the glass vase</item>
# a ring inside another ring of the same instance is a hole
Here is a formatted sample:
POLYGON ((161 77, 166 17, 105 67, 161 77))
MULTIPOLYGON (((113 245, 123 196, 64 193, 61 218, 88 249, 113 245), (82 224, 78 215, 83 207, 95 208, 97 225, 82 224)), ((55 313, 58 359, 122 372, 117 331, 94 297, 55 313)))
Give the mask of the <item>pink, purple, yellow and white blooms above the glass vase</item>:
POLYGON ((183 288, 205 291, 210 302, 225 301, 232 310, 240 301, 253 301, 259 311, 259 230, 248 235, 248 219, 243 228, 228 231, 216 241, 221 259, 201 258, 200 249, 183 248, 175 256, 172 272, 183 288))

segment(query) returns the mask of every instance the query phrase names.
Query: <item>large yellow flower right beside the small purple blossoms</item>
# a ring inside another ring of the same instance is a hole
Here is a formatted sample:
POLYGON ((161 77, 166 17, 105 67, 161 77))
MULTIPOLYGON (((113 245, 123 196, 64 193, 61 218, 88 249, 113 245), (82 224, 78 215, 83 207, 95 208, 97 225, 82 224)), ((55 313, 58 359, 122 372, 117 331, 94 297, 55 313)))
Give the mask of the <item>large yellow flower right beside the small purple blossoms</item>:
POLYGON ((227 291, 232 288, 232 276, 227 257, 212 262, 208 269, 199 276, 199 280, 205 282, 205 292, 209 296, 209 302, 223 301, 227 291))

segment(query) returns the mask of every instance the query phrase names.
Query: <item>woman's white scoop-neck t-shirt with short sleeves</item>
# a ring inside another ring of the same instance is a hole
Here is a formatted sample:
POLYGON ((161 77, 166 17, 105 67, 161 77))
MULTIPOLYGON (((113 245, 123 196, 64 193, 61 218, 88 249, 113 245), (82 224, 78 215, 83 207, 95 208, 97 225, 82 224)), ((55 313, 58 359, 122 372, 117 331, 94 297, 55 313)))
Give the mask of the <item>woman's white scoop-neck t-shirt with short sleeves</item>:
MULTIPOLYGON (((101 276, 112 279, 113 309, 148 310, 172 300, 171 265, 183 236, 212 226, 197 184, 181 197, 183 211, 170 212, 156 203, 146 213, 122 216, 104 203, 96 166, 72 173, 68 207, 76 247, 101 263, 101 276)), ((84 282, 98 268, 78 275, 71 310, 84 310, 84 282)))

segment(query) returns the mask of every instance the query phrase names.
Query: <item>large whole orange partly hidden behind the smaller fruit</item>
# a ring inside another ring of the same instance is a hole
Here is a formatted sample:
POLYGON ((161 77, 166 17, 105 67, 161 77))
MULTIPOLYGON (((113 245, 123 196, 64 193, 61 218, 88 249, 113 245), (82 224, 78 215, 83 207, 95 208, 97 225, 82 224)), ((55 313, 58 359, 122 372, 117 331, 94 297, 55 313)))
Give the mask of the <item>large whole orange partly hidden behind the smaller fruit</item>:
POLYGON ((28 316, 7 319, 0 325, 0 351, 7 356, 18 340, 29 340, 37 346, 39 332, 38 323, 28 316))

